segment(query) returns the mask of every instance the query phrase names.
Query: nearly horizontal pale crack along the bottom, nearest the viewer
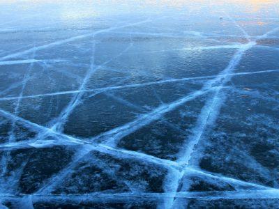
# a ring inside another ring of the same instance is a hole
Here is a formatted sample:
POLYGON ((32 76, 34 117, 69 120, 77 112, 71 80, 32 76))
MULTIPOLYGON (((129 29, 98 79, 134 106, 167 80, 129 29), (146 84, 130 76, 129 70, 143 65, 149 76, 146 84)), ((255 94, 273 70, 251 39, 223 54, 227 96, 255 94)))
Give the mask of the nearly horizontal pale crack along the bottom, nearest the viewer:
POLYGON ((160 202, 171 196, 178 199, 198 199, 199 201, 214 200, 236 200, 236 199, 279 199, 279 192, 276 189, 266 190, 243 190, 243 191, 222 191, 222 192, 176 192, 176 193, 144 193, 126 192, 105 194, 95 192, 89 194, 4 194, 0 195, 2 202, 20 201, 28 198, 32 203, 131 203, 138 202, 160 202))

